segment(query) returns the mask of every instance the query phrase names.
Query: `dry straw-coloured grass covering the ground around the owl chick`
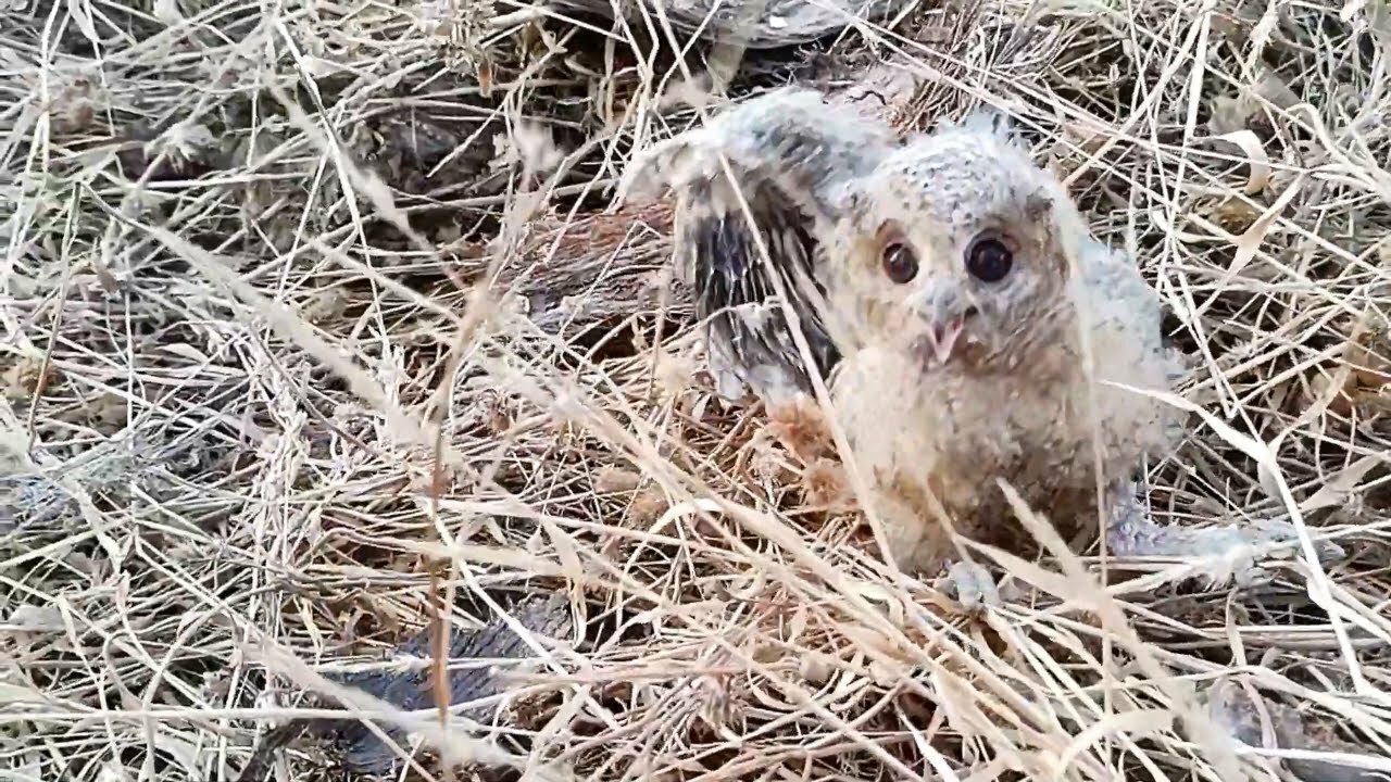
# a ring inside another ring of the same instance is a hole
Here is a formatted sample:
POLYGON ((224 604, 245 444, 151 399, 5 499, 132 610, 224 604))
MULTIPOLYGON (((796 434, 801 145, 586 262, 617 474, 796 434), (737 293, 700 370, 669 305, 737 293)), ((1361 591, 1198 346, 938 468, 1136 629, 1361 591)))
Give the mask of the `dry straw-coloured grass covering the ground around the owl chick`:
POLYGON ((983 619, 887 575, 803 422, 773 427, 789 448, 712 402, 679 302, 597 341, 476 285, 545 256, 537 225, 602 209, 634 135, 666 132, 680 79, 641 31, 491 3, 455 25, 416 3, 18 6, 0 3, 7 778, 235 778, 314 671, 441 600, 467 626, 519 589, 590 619, 519 685, 541 707, 472 739, 415 719, 527 776, 1270 768, 1280 751, 1238 760, 1195 717, 1219 679, 1335 717, 1391 769, 1384 1, 1006 0, 830 49, 933 74, 904 128, 1008 107, 1097 232, 1138 248, 1198 372, 1184 397, 1262 444, 1193 416, 1156 509, 1267 516, 1287 484, 1349 552, 1235 597, 1166 586, 1187 564, 1104 593, 1093 557, 1021 564, 1031 589, 983 619))

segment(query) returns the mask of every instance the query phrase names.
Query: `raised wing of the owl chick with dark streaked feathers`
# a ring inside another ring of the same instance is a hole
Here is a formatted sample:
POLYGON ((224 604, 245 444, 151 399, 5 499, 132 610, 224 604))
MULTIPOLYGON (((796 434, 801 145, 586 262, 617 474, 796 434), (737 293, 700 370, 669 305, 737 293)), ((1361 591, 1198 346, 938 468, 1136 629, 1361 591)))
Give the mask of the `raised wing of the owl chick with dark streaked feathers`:
POLYGON ((839 362, 823 314, 823 269, 833 262, 823 237, 855 182, 897 143, 882 122, 835 114, 819 92, 783 88, 633 159, 626 195, 675 195, 676 264, 696 294, 722 397, 751 390, 787 401, 839 362))

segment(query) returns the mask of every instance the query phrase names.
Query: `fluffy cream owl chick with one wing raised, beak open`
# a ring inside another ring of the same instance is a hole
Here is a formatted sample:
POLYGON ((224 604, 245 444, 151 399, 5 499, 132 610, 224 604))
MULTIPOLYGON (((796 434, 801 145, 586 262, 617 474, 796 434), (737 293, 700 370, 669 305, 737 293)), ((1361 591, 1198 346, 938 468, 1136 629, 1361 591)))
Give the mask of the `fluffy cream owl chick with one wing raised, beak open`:
POLYGON ((1294 534, 1143 511, 1135 472, 1182 433, 1132 390, 1181 377, 1159 298, 1002 117, 901 139, 783 88, 641 152, 623 191, 664 188, 719 394, 783 404, 826 380, 900 566, 946 565, 964 601, 993 600, 940 511, 972 540, 1028 544, 1002 479, 1064 537, 1107 519, 1113 554, 1232 552, 1239 583, 1260 575, 1252 544, 1294 534))

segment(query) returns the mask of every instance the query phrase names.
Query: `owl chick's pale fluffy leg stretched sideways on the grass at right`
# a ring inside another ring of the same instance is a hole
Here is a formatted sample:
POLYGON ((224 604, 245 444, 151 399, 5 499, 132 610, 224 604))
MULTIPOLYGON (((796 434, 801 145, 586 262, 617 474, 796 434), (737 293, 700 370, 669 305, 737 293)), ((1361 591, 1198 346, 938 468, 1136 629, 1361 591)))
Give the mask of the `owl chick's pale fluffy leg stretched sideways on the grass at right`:
MULTIPOLYGON (((1264 583, 1269 572, 1256 562, 1262 550, 1299 538, 1294 525, 1280 520, 1205 527, 1161 526, 1155 523, 1134 481, 1121 484, 1111 502, 1106 529, 1106 545, 1111 554, 1205 559, 1207 564, 1199 577, 1209 590, 1228 583, 1241 589, 1264 583)), ((1316 551, 1320 562, 1345 555, 1341 545, 1328 541, 1319 541, 1316 551)))

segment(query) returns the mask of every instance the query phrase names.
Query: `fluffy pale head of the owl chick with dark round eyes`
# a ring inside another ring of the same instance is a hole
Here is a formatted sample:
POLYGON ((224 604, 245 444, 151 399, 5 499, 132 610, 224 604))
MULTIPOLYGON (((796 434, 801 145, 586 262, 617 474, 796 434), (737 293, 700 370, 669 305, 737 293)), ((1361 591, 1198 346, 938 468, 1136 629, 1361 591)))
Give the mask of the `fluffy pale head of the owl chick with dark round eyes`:
POLYGON ((1064 337, 1085 225, 999 115, 908 139, 842 198, 828 288, 851 338, 899 345, 929 373, 989 374, 1064 337))

